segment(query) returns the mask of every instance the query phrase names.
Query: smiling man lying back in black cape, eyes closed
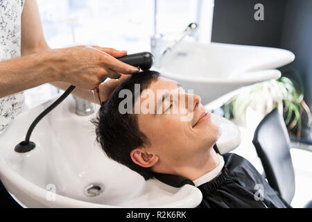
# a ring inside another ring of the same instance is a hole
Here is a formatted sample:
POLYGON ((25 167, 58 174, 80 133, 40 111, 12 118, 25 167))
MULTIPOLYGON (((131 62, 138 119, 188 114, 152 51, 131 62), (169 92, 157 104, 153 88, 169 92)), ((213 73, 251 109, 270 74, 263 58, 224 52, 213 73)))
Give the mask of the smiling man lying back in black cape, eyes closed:
POLYGON ((155 175, 191 180, 202 191, 198 207, 291 207, 248 160, 216 152, 220 129, 200 96, 156 71, 123 80, 94 123, 108 157, 145 180, 155 175))

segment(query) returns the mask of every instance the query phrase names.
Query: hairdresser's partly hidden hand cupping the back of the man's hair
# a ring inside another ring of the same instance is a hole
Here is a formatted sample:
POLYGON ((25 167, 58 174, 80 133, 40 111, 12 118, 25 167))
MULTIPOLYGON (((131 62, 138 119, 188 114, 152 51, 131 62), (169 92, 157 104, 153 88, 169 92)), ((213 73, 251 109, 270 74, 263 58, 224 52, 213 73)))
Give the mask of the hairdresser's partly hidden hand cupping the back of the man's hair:
POLYGON ((121 75, 121 78, 118 80, 111 79, 105 83, 101 83, 101 85, 98 86, 98 99, 100 100, 100 104, 107 100, 108 96, 112 94, 114 89, 116 89, 116 87, 129 76, 130 75, 121 75))

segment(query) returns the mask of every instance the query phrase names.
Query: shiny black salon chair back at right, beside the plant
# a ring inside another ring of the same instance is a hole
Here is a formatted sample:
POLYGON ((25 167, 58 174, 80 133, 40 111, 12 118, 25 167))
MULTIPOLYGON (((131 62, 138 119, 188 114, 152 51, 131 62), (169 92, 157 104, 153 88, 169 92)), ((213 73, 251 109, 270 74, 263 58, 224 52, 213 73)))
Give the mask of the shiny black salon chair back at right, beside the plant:
MULTIPOLYGON (((266 115, 257 126, 252 140, 261 160, 266 179, 287 203, 295 194, 295 173, 291 160, 289 135, 277 109, 266 115)), ((310 201, 305 207, 312 207, 310 201)))

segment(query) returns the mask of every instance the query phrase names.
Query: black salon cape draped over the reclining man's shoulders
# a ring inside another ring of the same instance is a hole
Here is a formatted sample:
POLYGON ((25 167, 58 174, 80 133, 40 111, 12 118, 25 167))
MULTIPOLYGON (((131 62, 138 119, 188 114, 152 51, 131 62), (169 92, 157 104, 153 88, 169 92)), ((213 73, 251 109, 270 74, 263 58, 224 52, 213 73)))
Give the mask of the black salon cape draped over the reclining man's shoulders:
MULTIPOLYGON (((234 153, 226 153, 223 158, 225 165, 220 175, 198 186, 202 191, 202 202, 198 208, 291 207, 248 160, 234 153), (259 191, 259 187, 263 191, 259 191)), ((173 187, 194 185, 187 178, 168 174, 157 173, 155 178, 173 187)))

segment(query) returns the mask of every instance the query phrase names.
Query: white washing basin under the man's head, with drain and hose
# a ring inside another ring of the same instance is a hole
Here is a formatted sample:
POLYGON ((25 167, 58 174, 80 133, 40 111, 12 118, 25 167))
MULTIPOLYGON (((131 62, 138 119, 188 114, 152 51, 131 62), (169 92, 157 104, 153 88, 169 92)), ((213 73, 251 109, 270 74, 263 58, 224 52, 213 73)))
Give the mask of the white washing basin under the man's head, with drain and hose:
MULTIPOLYGON (((16 153, 15 145, 24 140, 33 119, 53 101, 21 113, 0 136, 0 178, 21 205, 196 207, 200 203, 202 194, 196 187, 175 188, 156 179, 146 182, 139 174, 108 159, 95 142, 92 117, 77 116, 71 96, 38 123, 31 136, 36 148, 16 153), (86 196, 84 189, 92 184, 102 187, 103 192, 86 196)), ((218 141, 223 153, 239 146, 239 128, 222 117, 213 115, 212 120, 223 128, 218 141)))

